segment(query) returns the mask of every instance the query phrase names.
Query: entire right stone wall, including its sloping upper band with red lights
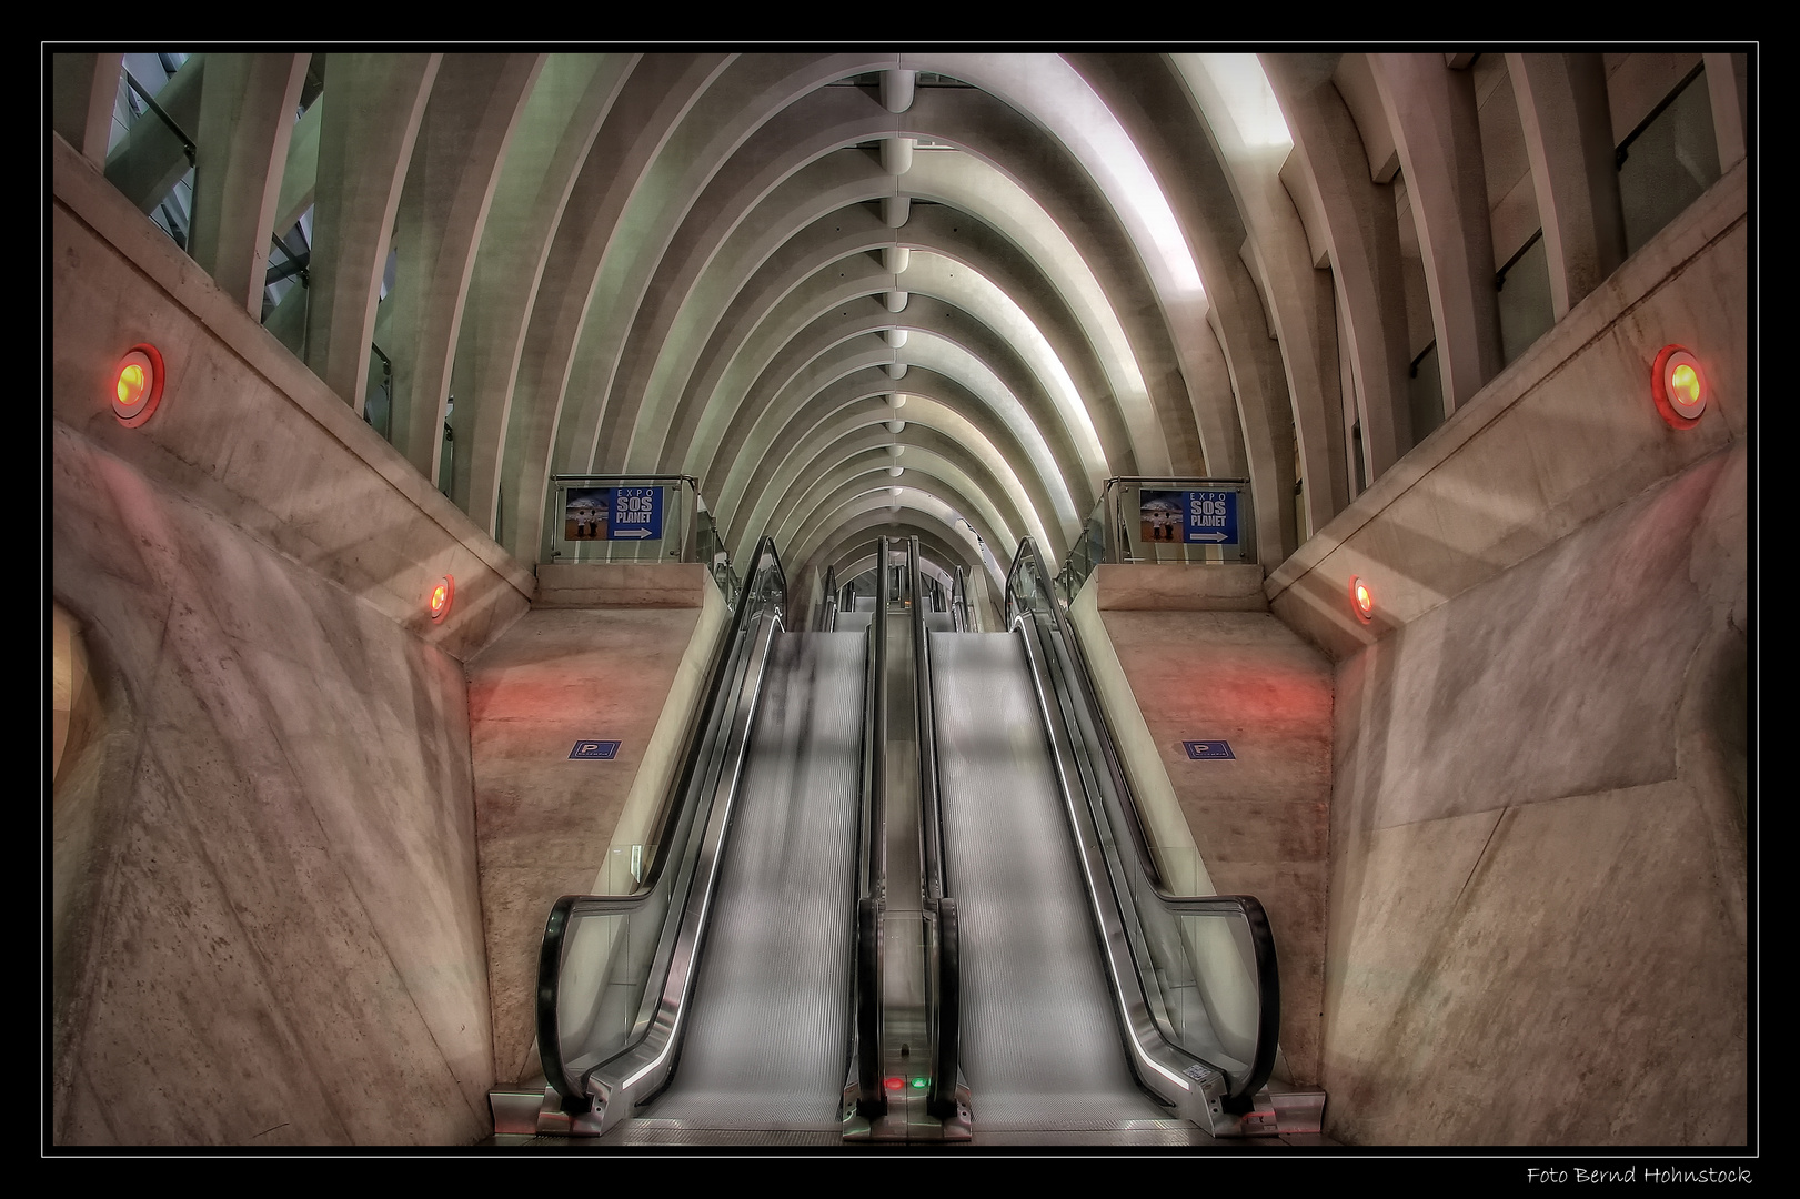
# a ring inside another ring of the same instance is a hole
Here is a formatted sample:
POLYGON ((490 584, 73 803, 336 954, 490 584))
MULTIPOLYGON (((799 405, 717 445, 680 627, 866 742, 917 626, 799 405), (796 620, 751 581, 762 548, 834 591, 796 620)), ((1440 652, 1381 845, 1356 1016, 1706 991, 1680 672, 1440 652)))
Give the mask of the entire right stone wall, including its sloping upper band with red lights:
POLYGON ((1271 572, 1337 663, 1321 1082, 1348 1143, 1746 1138, 1744 187, 1271 572), (1688 430, 1651 401, 1665 344, 1712 385, 1688 430))

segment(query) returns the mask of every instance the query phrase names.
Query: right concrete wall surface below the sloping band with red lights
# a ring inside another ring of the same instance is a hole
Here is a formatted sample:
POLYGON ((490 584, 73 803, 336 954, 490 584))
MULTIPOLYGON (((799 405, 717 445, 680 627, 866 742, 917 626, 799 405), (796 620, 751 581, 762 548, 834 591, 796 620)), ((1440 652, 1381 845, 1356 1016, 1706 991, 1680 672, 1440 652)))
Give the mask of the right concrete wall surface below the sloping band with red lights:
POLYGON ((1337 670, 1332 1136, 1744 1143, 1746 457, 1337 670))

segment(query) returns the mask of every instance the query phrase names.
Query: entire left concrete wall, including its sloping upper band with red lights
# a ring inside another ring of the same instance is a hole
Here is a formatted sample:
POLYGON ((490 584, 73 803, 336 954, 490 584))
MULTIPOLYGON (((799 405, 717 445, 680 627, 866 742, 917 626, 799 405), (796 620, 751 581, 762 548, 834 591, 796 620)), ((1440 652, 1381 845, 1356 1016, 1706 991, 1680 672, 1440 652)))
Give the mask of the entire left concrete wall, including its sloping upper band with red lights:
POLYGON ((459 659, 531 571, 50 140, 50 585, 106 681, 52 805, 52 1140, 470 1143, 493 1042, 459 659), (139 342, 167 382, 128 428, 139 342))

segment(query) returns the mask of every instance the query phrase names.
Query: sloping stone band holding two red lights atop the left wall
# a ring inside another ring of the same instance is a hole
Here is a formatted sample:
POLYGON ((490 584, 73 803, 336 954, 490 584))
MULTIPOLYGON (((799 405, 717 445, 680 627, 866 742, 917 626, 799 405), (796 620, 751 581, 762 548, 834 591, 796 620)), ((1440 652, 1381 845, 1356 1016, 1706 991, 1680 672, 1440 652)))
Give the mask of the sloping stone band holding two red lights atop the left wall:
POLYGON ((517 619, 535 590, 529 567, 70 155, 52 146, 56 419, 455 657, 517 619), (124 428, 106 396, 137 342, 162 351, 164 400, 124 428), (434 625, 425 596, 441 574, 455 576, 457 600, 434 625))

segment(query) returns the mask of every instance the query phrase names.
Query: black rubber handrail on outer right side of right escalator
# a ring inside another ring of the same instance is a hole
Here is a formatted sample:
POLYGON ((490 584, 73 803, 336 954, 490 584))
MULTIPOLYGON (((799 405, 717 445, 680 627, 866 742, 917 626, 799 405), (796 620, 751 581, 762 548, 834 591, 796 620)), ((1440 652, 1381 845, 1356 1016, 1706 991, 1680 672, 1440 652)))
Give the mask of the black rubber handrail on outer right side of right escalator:
MULTIPOLYGON (((1130 792, 1129 780, 1123 774, 1123 769, 1121 769, 1121 765, 1118 762, 1116 749, 1112 745, 1111 727, 1103 720, 1103 711, 1105 709, 1098 702, 1098 693, 1096 693, 1096 690, 1093 686, 1093 679, 1091 679, 1091 675, 1087 672, 1085 657, 1080 655, 1080 645, 1078 645, 1078 641, 1073 636, 1073 625, 1069 621, 1062 619, 1062 614, 1057 610, 1055 600, 1049 598, 1048 594, 1046 594, 1042 605, 1031 605, 1030 600, 1022 592, 1019 592, 1019 589, 1015 587, 1017 576, 1028 565, 1037 571, 1039 589, 1042 590, 1044 589, 1044 580, 1048 578, 1048 574, 1044 571, 1042 554, 1039 553, 1037 544, 1030 536, 1026 536, 1026 538, 1021 540, 1019 551, 1013 556, 1012 569, 1008 569, 1008 572, 1006 572, 1006 616, 1008 616, 1008 627, 1015 627, 1015 625, 1022 623, 1028 614, 1033 616, 1033 618, 1044 618, 1042 623, 1048 625, 1048 630, 1040 632, 1040 636, 1044 636, 1046 639, 1049 639, 1049 636, 1055 636, 1055 641, 1060 643, 1060 646, 1064 646, 1064 648, 1067 648, 1071 645, 1075 646, 1073 654, 1067 654, 1067 663, 1069 664, 1067 664, 1066 672, 1058 672, 1058 673, 1062 673, 1066 677, 1066 684, 1064 686, 1069 686, 1073 682, 1073 686, 1069 688, 1073 691, 1071 699, 1075 702, 1082 704, 1087 709, 1089 724, 1096 731, 1096 738, 1094 740, 1100 744, 1102 756, 1105 760, 1107 776, 1109 776, 1107 781, 1112 785, 1114 794, 1116 794, 1116 798, 1120 801, 1121 814, 1125 816, 1125 823, 1130 828, 1130 834, 1132 834, 1130 841, 1132 841, 1132 848, 1134 848, 1134 852, 1138 855, 1138 864, 1139 864, 1139 868, 1145 871, 1145 875, 1148 879, 1154 879, 1154 884, 1150 888, 1152 898, 1165 911, 1170 911, 1174 915, 1181 915, 1181 913, 1195 913, 1195 915, 1228 915, 1228 913, 1235 913, 1235 915, 1242 915, 1244 920, 1246 920, 1246 924, 1247 924, 1247 927, 1249 927, 1253 958, 1255 958, 1255 967, 1256 967, 1256 983, 1258 983, 1256 1051, 1253 1055, 1249 1069, 1244 1073, 1244 1078, 1238 1084, 1228 1087, 1228 1093, 1224 1096, 1228 1111, 1242 1111, 1242 1109, 1246 1109, 1246 1102, 1249 1098, 1253 1098, 1255 1093, 1258 1089, 1262 1089, 1262 1086, 1269 1080, 1269 1075, 1271 1075, 1271 1071, 1274 1068, 1274 1053, 1276 1053, 1278 1035, 1280 1035, 1280 972, 1278 972, 1278 960, 1276 960, 1276 952, 1274 952, 1274 938, 1273 938, 1273 933, 1269 929, 1267 913, 1264 911, 1262 904, 1256 898, 1253 898, 1253 897, 1240 897, 1240 895, 1177 897, 1177 895, 1170 895, 1168 891, 1163 889, 1163 886, 1161 886, 1161 875, 1156 871, 1154 857, 1150 855, 1148 844, 1147 844, 1147 841, 1143 837, 1141 819, 1139 819, 1139 814, 1136 810, 1136 799, 1134 799, 1134 796, 1130 792), (1024 600, 1024 603, 1019 603, 1019 600, 1024 600), (1069 675, 1073 675, 1073 679, 1069 679, 1069 675)), ((1030 639, 1028 639, 1028 648, 1030 648, 1030 639)), ((1033 659, 1033 664, 1035 664, 1035 654, 1031 655, 1031 659, 1033 659)), ((1044 715, 1046 715, 1046 718, 1049 717, 1049 709, 1048 708, 1046 708, 1044 715)), ((1089 808, 1091 810, 1096 808, 1096 805, 1093 803, 1093 799, 1089 801, 1089 808)), ((1098 812, 1098 810, 1093 812, 1093 819, 1094 821, 1102 819, 1102 816, 1103 814, 1098 812)), ((1102 855, 1102 861, 1105 861, 1105 855, 1102 855)), ((1105 870, 1111 875, 1111 864, 1107 864, 1105 870)), ((1129 888, 1129 884, 1123 879, 1112 879, 1111 882, 1112 882, 1114 897, 1120 902, 1121 916, 1127 916, 1129 915, 1127 913, 1127 897, 1134 895, 1134 891, 1129 888)), ((1100 902, 1098 897, 1096 897, 1096 902, 1100 902)), ((1129 954, 1130 954, 1130 958, 1134 961, 1136 972, 1139 974, 1138 985, 1139 985, 1139 988, 1143 988, 1141 976, 1148 969, 1148 963, 1136 961, 1136 949, 1130 947, 1130 942, 1127 942, 1127 951, 1129 951, 1129 954)), ((1123 985, 1123 979, 1114 978, 1114 987, 1118 988, 1121 985, 1123 985)), ((1118 994, 1118 1001, 1121 1005, 1121 1014, 1127 1014, 1132 1005, 1127 1001, 1127 997, 1121 992, 1118 994)), ((1127 1019, 1129 1019, 1129 1015, 1127 1015, 1127 1019)), ((1165 1044, 1168 1044, 1170 1050, 1175 1050, 1175 1051, 1179 1051, 1179 1053, 1183 1053, 1186 1057, 1193 1057, 1195 1060, 1204 1060, 1204 1059, 1199 1059, 1199 1055, 1192 1053, 1190 1050, 1184 1050, 1179 1044, 1168 1041, 1168 1037, 1163 1035, 1163 1030, 1161 1030, 1159 1024, 1157 1024, 1157 1033, 1159 1033, 1159 1039, 1165 1041, 1165 1044)), ((1206 1062, 1206 1064, 1211 1066, 1213 1069, 1219 1069, 1211 1062, 1206 1062)), ((1219 1069, 1219 1073, 1220 1073, 1220 1077, 1228 1078, 1228 1082, 1229 1082, 1229 1071, 1219 1069)))

